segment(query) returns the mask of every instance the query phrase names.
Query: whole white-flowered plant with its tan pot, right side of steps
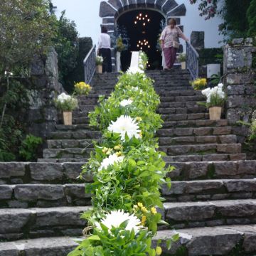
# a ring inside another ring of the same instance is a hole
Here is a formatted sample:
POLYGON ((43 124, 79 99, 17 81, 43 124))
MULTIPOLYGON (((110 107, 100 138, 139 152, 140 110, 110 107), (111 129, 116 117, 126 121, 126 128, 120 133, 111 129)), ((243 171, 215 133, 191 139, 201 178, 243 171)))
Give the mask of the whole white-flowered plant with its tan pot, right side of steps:
POLYGON ((225 92, 223 92, 223 84, 219 83, 213 88, 202 90, 202 94, 206 96, 206 102, 201 102, 201 105, 208 107, 210 120, 219 120, 221 110, 225 103, 225 92))

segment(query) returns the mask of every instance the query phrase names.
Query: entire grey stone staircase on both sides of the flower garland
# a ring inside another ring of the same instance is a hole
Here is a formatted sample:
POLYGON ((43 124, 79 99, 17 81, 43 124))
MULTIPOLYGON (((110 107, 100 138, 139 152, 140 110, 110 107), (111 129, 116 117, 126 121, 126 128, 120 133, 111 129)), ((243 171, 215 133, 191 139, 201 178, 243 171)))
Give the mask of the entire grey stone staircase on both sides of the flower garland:
MULTIPOLYGON (((188 84, 186 71, 148 75, 161 96, 160 149, 166 164, 176 167, 169 174, 171 191, 162 188, 163 216, 170 225, 157 237, 170 238, 175 228, 181 239, 167 255, 256 255, 256 161, 246 161, 227 120, 211 121, 198 107, 204 99, 188 84)), ((68 237, 82 235, 86 223, 80 213, 90 207, 77 177, 92 140, 101 137, 89 127, 87 112, 116 81, 115 73, 95 75, 74 124, 56 126, 38 163, 0 163, 0 256, 62 256, 75 247, 68 237)))

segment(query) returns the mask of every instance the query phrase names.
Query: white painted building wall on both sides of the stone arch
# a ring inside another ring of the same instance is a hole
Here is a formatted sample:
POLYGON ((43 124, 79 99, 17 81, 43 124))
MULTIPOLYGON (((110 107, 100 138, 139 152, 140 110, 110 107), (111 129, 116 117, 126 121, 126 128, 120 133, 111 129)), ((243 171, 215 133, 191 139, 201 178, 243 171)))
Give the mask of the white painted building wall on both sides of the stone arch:
MULTIPOLYGON (((100 2, 102 0, 53 0, 53 4, 58 7, 56 14, 60 15, 61 11, 66 10, 66 16, 75 21, 78 26, 80 36, 90 36, 94 43, 100 33, 100 23, 102 18, 99 17, 100 2)), ((223 40, 218 35, 218 24, 220 18, 213 18, 205 21, 199 16, 196 5, 189 4, 189 0, 176 0, 178 4, 185 4, 187 13, 181 17, 181 24, 184 26, 184 33, 190 37, 192 31, 205 31, 206 48, 220 46, 219 41, 223 40)))

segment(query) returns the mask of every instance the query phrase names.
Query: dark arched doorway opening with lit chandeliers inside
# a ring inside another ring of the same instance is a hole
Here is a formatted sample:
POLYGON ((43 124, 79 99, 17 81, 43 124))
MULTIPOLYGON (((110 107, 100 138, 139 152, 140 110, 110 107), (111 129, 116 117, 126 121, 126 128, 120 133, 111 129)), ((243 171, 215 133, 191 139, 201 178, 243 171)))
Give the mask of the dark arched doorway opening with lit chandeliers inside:
POLYGON ((166 18, 159 11, 136 9, 124 12, 116 24, 127 33, 129 48, 122 52, 122 70, 129 68, 132 51, 143 50, 149 57, 148 69, 161 68, 159 34, 166 25, 166 18))

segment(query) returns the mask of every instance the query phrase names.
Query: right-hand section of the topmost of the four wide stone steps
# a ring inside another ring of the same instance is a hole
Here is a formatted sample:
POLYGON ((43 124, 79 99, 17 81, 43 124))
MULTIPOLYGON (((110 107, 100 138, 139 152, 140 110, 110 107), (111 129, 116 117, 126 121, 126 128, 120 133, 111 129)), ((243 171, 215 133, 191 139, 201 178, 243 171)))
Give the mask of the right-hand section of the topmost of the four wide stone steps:
POLYGON ((191 161, 175 162, 167 156, 167 166, 174 166, 168 174, 172 181, 191 181, 204 179, 255 178, 256 161, 191 161))

